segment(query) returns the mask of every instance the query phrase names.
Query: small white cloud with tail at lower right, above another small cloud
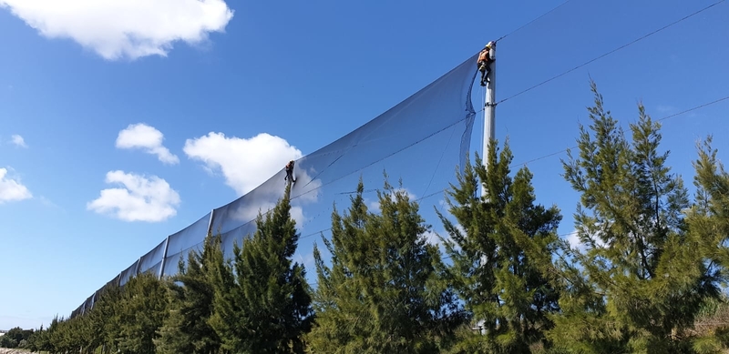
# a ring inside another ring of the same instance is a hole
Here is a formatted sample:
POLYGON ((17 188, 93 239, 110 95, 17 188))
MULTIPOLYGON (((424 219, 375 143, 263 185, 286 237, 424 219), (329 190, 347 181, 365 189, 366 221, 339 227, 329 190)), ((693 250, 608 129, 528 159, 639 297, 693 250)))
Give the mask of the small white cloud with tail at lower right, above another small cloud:
POLYGON ((180 158, 169 152, 167 147, 162 145, 164 136, 154 126, 144 123, 130 124, 126 129, 121 130, 117 137, 118 148, 141 148, 146 153, 157 155, 159 161, 165 164, 178 164, 180 158))

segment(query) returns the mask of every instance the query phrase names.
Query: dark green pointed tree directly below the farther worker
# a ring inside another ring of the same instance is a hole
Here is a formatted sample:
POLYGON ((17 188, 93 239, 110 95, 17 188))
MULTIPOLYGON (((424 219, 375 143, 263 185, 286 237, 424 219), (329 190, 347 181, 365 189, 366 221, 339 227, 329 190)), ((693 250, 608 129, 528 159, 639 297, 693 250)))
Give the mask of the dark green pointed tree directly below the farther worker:
MULTIPOLYGON (((290 187, 255 233, 233 247, 235 282, 219 276, 211 324, 224 348, 238 353, 303 353, 313 313, 303 265, 292 262, 299 234, 291 218, 290 187), (221 296, 218 296, 220 294, 221 296)), ((231 271, 230 266, 221 272, 231 271)))

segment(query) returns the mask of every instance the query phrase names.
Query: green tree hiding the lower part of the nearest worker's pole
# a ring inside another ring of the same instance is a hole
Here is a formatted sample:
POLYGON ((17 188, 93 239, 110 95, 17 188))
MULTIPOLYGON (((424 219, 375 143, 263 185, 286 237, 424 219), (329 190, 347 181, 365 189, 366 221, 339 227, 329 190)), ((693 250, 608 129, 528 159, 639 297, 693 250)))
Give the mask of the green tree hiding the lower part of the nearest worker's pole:
POLYGON ((559 309, 544 272, 558 246, 560 211, 535 203, 527 167, 509 176, 508 143, 498 158, 495 141, 488 151, 486 166, 479 157, 475 167, 467 162, 448 191, 457 223, 438 213, 450 237, 443 239, 453 262, 449 278, 480 329, 462 335, 453 351, 529 353, 549 346, 547 315, 559 309))

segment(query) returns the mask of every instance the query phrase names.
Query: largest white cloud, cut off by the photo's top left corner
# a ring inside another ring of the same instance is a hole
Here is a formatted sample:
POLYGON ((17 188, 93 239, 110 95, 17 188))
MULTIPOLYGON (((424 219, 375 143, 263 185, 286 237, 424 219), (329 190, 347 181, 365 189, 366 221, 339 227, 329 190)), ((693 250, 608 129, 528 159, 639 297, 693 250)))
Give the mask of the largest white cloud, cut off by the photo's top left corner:
POLYGON ((48 38, 71 38, 108 60, 167 56, 223 32, 233 11, 223 0, 0 0, 0 7, 48 38))

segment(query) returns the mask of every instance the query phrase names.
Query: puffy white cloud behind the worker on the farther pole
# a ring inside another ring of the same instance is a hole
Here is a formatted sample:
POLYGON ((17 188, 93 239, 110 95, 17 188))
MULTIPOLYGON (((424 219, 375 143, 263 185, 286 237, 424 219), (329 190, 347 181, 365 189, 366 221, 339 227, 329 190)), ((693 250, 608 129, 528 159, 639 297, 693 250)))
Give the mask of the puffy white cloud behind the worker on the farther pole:
POLYGON ((202 161, 210 171, 220 170, 225 183, 239 196, 280 173, 289 160, 302 157, 302 152, 286 140, 266 133, 244 139, 210 132, 188 139, 184 151, 191 159, 202 161))

